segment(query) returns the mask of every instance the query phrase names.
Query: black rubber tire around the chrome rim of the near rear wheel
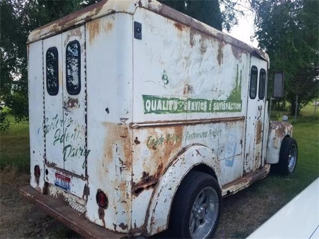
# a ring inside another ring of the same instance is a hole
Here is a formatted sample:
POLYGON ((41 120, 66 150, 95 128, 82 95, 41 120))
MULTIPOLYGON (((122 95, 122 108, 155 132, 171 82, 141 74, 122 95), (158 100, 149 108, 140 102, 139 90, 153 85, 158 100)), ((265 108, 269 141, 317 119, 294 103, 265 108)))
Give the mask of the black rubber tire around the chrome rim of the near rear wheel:
POLYGON ((171 206, 169 234, 172 238, 191 238, 189 221, 193 204, 200 192, 207 187, 212 187, 218 196, 217 218, 214 228, 210 231, 206 238, 211 238, 214 235, 222 208, 220 187, 213 176, 202 172, 191 171, 181 182, 171 206))

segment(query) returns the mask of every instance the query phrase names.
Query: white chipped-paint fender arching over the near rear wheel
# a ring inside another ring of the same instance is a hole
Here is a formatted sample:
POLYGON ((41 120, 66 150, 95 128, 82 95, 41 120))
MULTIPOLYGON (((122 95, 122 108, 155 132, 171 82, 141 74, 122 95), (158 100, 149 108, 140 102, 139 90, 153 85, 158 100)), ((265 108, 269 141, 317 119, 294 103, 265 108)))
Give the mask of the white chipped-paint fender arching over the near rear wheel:
POLYGON ((176 190, 184 176, 198 164, 209 166, 219 181, 220 165, 212 149, 201 144, 184 148, 166 167, 152 194, 145 219, 146 236, 154 235, 168 228, 170 207, 176 190))

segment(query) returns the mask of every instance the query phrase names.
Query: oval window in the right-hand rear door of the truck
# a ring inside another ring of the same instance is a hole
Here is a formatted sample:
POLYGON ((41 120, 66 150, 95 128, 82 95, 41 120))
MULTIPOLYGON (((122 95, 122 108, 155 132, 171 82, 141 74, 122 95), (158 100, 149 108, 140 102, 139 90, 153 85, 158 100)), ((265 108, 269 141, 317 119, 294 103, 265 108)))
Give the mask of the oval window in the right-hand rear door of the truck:
POLYGON ((75 40, 66 46, 66 90, 70 95, 77 95, 81 90, 81 50, 80 43, 75 40))

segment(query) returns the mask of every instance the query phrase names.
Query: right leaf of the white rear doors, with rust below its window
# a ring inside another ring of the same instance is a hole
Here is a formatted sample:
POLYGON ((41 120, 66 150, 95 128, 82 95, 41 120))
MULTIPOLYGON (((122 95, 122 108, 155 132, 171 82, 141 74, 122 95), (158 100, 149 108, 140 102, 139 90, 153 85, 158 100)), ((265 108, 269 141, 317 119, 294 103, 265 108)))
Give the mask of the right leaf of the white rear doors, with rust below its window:
POLYGON ((64 169, 86 175, 85 27, 62 33, 64 169))

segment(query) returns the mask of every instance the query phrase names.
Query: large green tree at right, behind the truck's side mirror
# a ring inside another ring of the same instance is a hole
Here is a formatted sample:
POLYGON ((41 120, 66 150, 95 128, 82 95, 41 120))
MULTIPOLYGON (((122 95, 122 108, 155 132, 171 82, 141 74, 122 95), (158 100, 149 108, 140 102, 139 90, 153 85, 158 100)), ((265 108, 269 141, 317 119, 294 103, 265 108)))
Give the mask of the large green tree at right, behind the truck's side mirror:
MULTIPOLYGON (((252 0, 259 47, 270 57, 270 72, 284 71, 285 97, 298 114, 318 97, 319 89, 319 1, 252 0)), ((269 93, 273 79, 270 77, 269 93)))

